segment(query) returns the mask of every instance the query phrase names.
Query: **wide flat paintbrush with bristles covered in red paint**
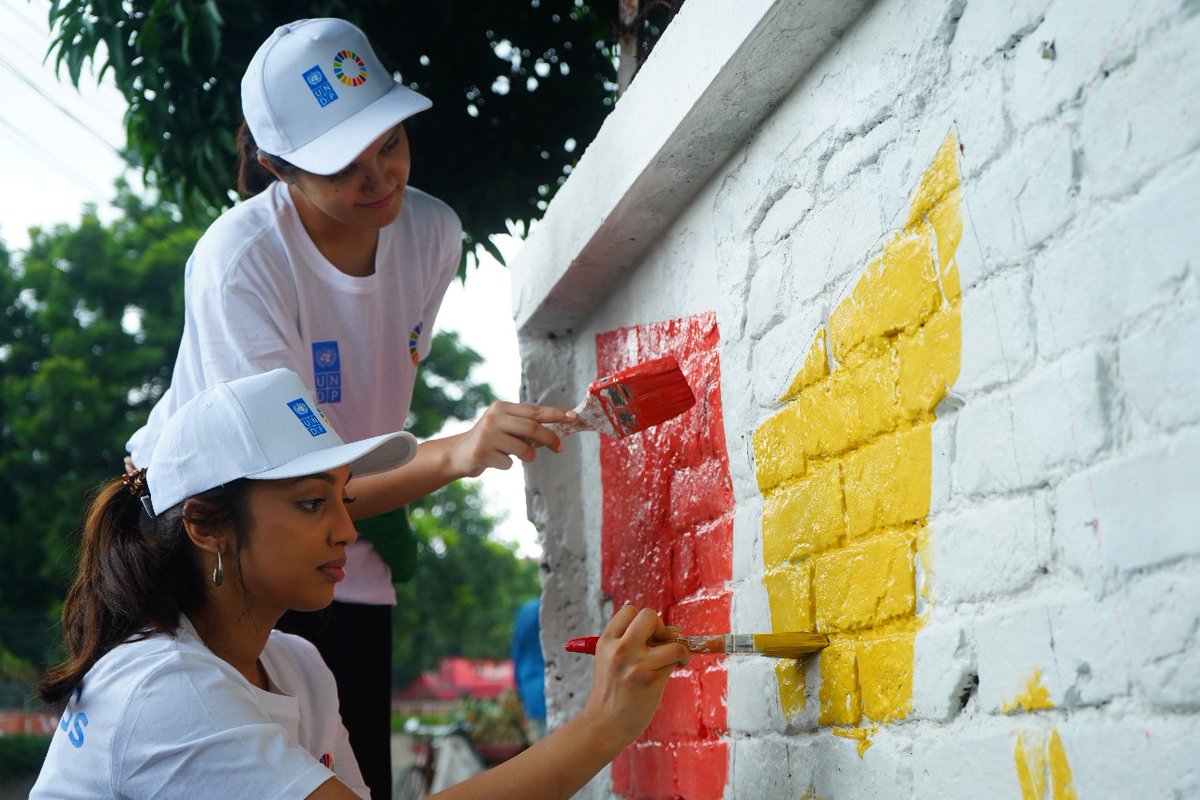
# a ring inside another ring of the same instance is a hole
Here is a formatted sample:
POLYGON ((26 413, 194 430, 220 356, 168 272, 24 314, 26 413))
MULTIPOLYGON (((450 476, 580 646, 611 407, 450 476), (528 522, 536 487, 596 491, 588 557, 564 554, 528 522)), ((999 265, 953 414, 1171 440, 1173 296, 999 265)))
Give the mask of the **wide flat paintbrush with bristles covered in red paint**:
POLYGON ((679 416, 695 404, 679 362, 668 355, 593 381, 575 408, 575 422, 550 422, 546 427, 559 437, 599 431, 620 439, 679 416))

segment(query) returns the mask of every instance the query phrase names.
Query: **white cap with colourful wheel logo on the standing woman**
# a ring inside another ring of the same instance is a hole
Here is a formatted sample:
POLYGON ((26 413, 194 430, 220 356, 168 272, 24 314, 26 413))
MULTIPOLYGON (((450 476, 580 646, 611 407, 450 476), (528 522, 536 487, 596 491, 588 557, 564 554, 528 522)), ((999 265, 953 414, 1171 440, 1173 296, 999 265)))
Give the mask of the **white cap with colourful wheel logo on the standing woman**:
POLYGON ((276 28, 241 79, 241 113, 259 149, 317 175, 341 172, 432 104, 392 78, 344 19, 276 28))

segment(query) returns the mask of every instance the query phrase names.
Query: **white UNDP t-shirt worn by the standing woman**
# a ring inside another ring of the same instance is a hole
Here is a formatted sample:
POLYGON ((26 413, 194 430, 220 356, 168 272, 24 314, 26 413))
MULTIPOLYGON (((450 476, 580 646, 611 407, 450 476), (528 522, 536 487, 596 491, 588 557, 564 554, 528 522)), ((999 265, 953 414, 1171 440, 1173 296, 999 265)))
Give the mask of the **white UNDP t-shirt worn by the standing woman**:
MULTIPOLYGON (((379 231, 376 271, 346 275, 320 254, 276 181, 221 216, 196 245, 170 389, 128 447, 150 463, 163 423, 212 384, 287 367, 314 390, 346 441, 400 431, 433 321, 462 254, 452 210, 408 188, 379 231)), ((347 548, 342 602, 395 604, 391 572, 366 539, 347 548)))

